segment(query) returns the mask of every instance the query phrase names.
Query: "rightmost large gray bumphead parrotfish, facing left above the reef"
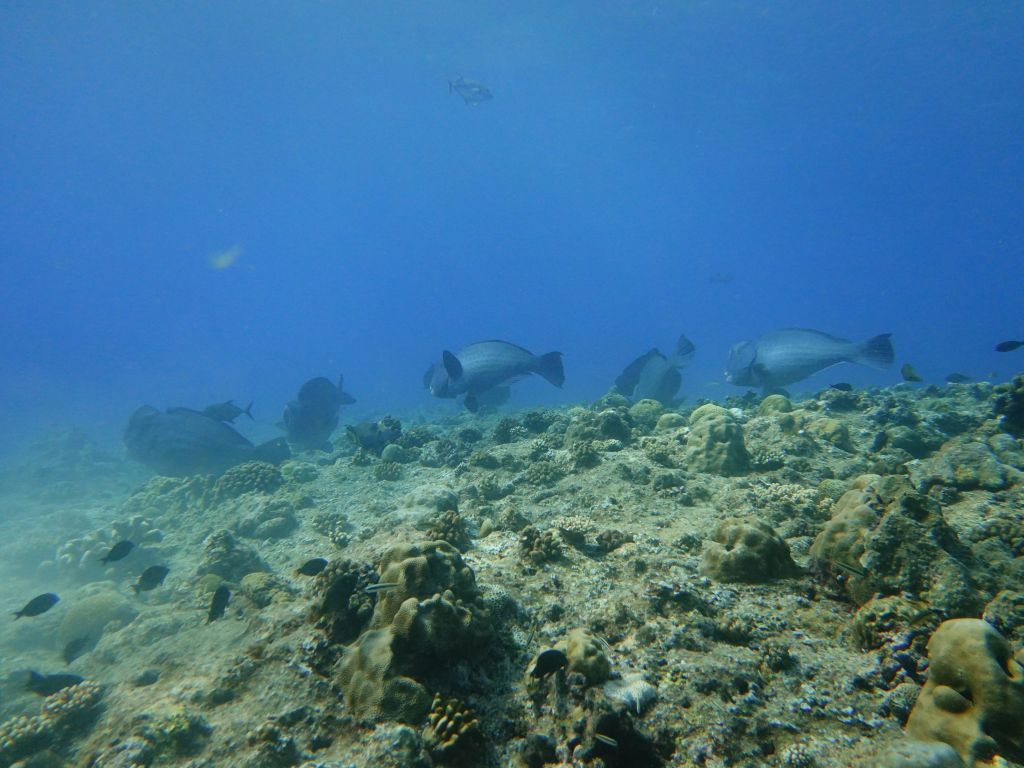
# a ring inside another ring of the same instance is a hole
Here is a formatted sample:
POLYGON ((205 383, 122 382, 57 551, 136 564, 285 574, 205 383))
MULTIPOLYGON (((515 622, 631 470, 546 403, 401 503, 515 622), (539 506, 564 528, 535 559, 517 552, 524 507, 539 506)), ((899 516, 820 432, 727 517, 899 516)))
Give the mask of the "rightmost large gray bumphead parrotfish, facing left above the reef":
POLYGON ((858 343, 806 328, 770 331, 733 345, 725 378, 740 387, 775 389, 838 362, 889 368, 894 356, 890 336, 882 334, 858 343))

